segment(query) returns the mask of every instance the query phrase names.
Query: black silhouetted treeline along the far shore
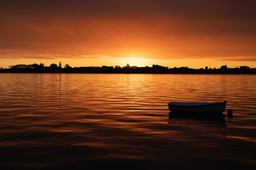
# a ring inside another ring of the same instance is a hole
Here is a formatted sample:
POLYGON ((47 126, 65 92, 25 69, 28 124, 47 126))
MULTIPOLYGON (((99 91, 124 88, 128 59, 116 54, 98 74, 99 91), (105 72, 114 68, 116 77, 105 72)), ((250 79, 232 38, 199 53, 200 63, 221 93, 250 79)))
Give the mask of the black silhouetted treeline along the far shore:
POLYGON ((0 72, 14 73, 124 73, 124 74, 256 74, 255 68, 241 66, 236 68, 228 68, 223 65, 218 69, 205 67, 204 69, 190 69, 188 67, 164 67, 153 64, 152 67, 136 67, 136 66, 102 66, 102 67, 70 67, 65 64, 64 67, 59 64, 50 64, 49 67, 44 64, 17 64, 9 66, 9 69, 0 69, 0 72))

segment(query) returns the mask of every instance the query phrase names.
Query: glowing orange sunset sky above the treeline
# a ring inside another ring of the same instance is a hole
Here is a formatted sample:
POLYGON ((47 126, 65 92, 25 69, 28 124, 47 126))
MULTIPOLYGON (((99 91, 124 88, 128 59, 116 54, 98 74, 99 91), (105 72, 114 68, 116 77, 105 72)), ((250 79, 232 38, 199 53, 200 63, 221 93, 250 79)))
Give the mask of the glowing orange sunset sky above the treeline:
POLYGON ((0 67, 256 67, 255 0, 1 0, 0 67))

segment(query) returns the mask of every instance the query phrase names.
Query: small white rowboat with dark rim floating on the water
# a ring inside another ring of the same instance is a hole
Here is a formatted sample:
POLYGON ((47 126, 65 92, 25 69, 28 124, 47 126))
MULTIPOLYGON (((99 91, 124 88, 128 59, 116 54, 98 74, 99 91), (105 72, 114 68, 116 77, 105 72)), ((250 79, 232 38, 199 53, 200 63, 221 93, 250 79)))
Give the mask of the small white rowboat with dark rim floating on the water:
POLYGON ((181 113, 223 113, 227 101, 208 103, 183 103, 169 102, 168 107, 172 112, 181 113))

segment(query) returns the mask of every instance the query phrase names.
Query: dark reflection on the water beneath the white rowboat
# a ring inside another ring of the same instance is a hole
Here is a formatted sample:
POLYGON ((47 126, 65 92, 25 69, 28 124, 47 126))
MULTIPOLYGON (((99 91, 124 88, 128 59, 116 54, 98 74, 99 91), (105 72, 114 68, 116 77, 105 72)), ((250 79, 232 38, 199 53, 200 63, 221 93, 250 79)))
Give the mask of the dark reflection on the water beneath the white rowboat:
POLYGON ((171 124, 172 120, 196 120, 197 122, 213 122, 225 125, 225 115, 223 113, 208 114, 208 113, 177 113, 170 112, 168 123, 171 124))

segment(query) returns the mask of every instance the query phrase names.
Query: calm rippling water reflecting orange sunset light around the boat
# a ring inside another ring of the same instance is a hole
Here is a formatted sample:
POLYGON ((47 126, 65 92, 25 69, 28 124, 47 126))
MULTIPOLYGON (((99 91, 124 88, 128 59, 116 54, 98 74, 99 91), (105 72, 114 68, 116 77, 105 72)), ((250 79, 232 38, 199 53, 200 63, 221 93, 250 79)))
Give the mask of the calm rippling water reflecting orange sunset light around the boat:
POLYGON ((255 84, 255 75, 0 74, 0 169, 255 169, 255 84), (224 100, 233 117, 167 106, 224 100))

